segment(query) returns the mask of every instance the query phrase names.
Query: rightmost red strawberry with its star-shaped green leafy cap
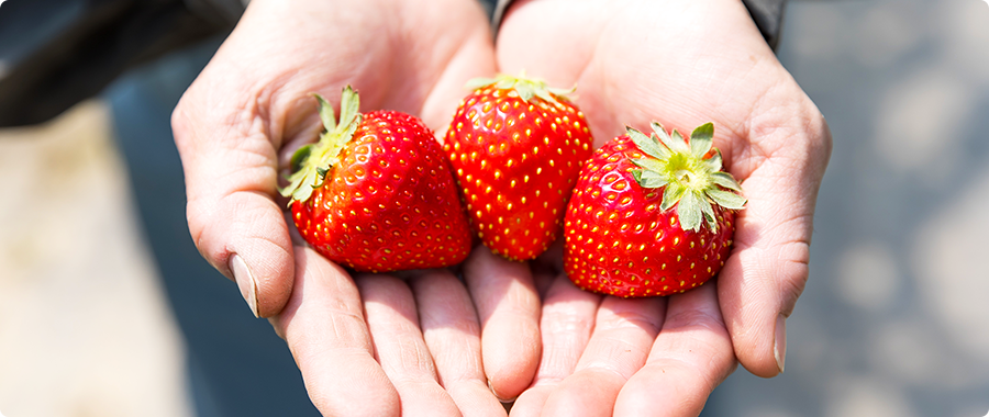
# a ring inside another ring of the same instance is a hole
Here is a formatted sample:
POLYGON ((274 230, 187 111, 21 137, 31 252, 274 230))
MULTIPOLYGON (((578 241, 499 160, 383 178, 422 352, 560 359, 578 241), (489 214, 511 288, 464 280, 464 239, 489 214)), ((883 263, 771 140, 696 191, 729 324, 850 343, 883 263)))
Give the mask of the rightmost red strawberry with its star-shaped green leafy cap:
POLYGON ((578 286, 618 296, 681 293, 724 266, 745 199, 721 171, 714 126, 689 140, 658 123, 598 149, 567 208, 564 270, 578 286), (658 138, 657 138, 658 135, 658 138))

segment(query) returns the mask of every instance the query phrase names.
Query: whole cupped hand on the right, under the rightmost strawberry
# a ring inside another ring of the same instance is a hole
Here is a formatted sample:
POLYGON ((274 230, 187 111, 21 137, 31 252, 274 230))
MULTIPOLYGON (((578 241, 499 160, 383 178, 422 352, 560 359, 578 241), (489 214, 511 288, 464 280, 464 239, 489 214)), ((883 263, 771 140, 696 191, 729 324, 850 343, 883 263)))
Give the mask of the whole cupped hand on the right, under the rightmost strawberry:
POLYGON ((616 414, 696 415, 735 358, 759 376, 782 372, 786 317, 807 281, 831 137, 741 1, 520 1, 497 44, 502 72, 524 69, 551 86, 577 84, 577 103, 598 145, 626 124, 645 129, 655 120, 688 133, 714 122, 715 146, 748 199, 716 283, 665 301, 607 298, 600 305, 558 304, 551 290, 534 384, 563 381, 535 401, 541 404, 526 405, 526 396, 537 396, 523 394, 513 414, 538 409, 544 401, 552 409, 569 404, 574 415, 611 406, 616 414), (638 318, 618 320, 618 327, 632 324, 637 336, 598 337, 607 333, 603 323, 630 316, 638 318), (612 377, 570 375, 574 367, 611 370, 612 377), (646 387, 651 394, 636 394, 646 387), (569 399, 555 401, 557 393, 569 399), (656 402, 656 393, 671 402, 656 402), (674 409, 658 406, 670 404, 674 409))

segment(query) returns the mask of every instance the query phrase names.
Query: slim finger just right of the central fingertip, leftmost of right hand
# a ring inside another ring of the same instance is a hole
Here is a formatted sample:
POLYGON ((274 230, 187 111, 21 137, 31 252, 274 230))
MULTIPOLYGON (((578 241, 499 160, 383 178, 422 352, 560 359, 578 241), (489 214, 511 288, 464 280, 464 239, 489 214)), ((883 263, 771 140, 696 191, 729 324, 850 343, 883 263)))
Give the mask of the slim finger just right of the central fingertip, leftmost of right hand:
POLYGON ((540 416, 546 398, 574 372, 594 328, 601 295, 582 291, 557 274, 546 292, 540 320, 543 351, 532 386, 512 405, 512 416, 540 416))

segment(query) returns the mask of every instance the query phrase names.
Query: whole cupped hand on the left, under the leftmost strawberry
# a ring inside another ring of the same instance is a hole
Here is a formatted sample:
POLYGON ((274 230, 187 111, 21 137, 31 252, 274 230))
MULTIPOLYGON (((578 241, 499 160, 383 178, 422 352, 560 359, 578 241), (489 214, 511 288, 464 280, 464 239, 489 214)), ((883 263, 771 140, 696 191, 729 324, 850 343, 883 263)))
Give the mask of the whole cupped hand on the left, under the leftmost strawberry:
POLYGON ((352 280, 293 245, 276 191, 279 167, 321 128, 310 93, 337 98, 349 83, 365 109, 419 115, 442 137, 465 82, 493 72, 473 0, 255 0, 175 111, 193 241, 273 317, 325 414, 504 413, 482 395, 463 286, 443 272, 352 280))

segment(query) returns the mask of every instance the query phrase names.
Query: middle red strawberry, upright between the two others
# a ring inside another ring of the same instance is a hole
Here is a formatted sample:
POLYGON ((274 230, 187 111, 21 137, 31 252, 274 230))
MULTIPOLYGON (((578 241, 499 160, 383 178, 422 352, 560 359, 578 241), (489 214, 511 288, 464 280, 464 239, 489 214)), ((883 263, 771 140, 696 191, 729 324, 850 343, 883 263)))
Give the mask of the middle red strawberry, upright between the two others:
POLYGON ((494 253, 532 259, 560 234, 593 138, 584 113, 545 82, 475 80, 446 134, 467 214, 494 253))

